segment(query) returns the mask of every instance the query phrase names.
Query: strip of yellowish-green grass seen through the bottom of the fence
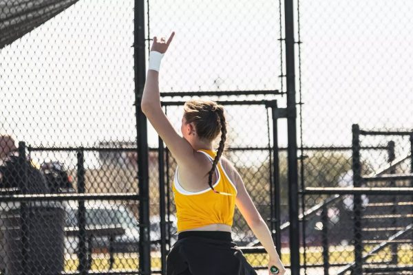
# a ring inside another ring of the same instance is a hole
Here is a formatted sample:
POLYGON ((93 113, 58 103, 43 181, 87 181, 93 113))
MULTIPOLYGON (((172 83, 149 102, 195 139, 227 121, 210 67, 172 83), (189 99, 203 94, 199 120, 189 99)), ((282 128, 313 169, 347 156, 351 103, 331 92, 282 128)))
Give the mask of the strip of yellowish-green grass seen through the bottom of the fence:
MULTIPOLYGON (((370 250, 372 247, 367 248, 370 250)), ((400 265, 413 265, 413 245, 399 245, 397 251, 400 265)), ((301 263, 304 262, 304 250, 300 252, 301 263)), ((266 265, 266 254, 245 254, 246 259, 253 266, 266 265)), ((391 253, 390 247, 381 250, 381 252, 372 256, 368 262, 382 263, 390 261, 391 253)), ((306 250, 306 263, 308 265, 316 265, 323 263, 322 248, 313 247, 306 250)), ((352 246, 347 247, 338 246, 331 247, 329 252, 329 262, 333 263, 351 263, 354 261, 354 254, 352 246)), ((114 256, 114 270, 137 270, 138 269, 138 254, 115 254, 114 256)), ((290 254, 288 249, 282 250, 282 262, 288 265, 290 262, 290 254)), ((76 256, 65 259, 65 271, 75 271, 78 267, 78 259, 76 256)), ((151 267, 153 270, 160 269, 160 254, 153 252, 151 257, 151 267)), ((93 254, 92 256, 92 270, 104 271, 109 270, 109 254, 93 254)))

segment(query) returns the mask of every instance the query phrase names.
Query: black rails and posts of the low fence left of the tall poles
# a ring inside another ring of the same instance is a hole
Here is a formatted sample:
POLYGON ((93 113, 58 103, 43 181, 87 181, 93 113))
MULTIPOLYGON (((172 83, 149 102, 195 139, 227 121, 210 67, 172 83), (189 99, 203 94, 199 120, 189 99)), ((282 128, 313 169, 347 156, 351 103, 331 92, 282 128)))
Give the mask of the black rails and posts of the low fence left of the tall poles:
MULTIPOLYGON (((27 240, 27 232, 28 232, 28 225, 27 225, 27 211, 28 207, 26 203, 31 201, 78 201, 78 226, 75 229, 72 229, 70 234, 73 236, 77 236, 79 239, 78 244, 78 272, 69 272, 68 274, 80 274, 85 275, 90 273, 90 266, 92 261, 92 246, 89 245, 87 247, 87 242, 92 241, 92 236, 96 236, 98 234, 104 234, 109 236, 109 267, 112 267, 114 264, 114 253, 112 251, 112 242, 114 241, 114 235, 118 234, 118 232, 122 231, 123 228, 112 228, 112 227, 94 227, 93 229, 89 229, 86 226, 86 217, 85 217, 85 201, 95 200, 95 199, 109 199, 109 200, 131 200, 131 201, 140 201, 140 195, 136 192, 121 192, 121 193, 86 193, 85 192, 85 151, 136 151, 136 148, 102 148, 102 147, 79 147, 79 148, 72 148, 72 147, 61 147, 61 148, 45 148, 45 147, 32 147, 26 146, 25 142, 19 142, 19 163, 20 166, 23 167, 24 170, 21 171, 21 177, 23 180, 23 186, 21 190, 17 190, 15 188, 8 188, 8 190, 2 190, 0 193, 0 201, 3 202, 20 202, 20 214, 21 214, 21 243, 22 243, 22 265, 23 265, 23 274, 30 274, 25 265, 27 263, 28 258, 28 240, 27 240), (31 152, 56 152, 56 151, 66 151, 66 152, 76 152, 77 156, 77 193, 47 193, 47 194, 29 194, 27 192, 28 186, 28 176, 27 171, 25 170, 24 162, 28 159, 28 155, 31 152), (27 152, 27 153, 26 153, 27 152)), ((142 223, 138 225, 140 228, 142 227, 142 223)), ((66 232, 67 233, 67 232, 66 232)), ((149 247, 150 250, 150 247, 149 247)), ((140 252, 141 253, 141 252, 140 252)), ((109 268, 110 269, 110 268, 109 268)), ((66 274, 67 272, 61 272, 61 274, 66 274)), ((110 271, 110 272, 93 272, 96 275, 102 274, 140 274, 138 271, 129 271, 129 272, 117 272, 117 271, 110 271)))

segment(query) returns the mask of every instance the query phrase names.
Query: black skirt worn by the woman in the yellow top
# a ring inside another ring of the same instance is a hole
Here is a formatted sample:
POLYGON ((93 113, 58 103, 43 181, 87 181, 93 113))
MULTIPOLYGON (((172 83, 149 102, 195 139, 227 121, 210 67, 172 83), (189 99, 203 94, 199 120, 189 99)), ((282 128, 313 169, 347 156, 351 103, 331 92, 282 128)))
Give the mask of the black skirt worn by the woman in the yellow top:
POLYGON ((257 275, 231 232, 185 231, 167 256, 167 275, 257 275))

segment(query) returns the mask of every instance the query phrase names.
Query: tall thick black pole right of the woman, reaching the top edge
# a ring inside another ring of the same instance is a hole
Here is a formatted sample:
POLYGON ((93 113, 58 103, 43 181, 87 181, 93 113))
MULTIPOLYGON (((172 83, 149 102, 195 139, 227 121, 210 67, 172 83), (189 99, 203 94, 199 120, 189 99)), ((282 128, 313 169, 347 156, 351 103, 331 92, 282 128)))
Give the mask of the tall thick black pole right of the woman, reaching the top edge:
POLYGON ((288 204, 290 216, 291 275, 299 275, 299 221, 297 168, 297 108, 295 106, 295 54, 293 0, 284 1, 286 32, 286 88, 288 127, 288 204))

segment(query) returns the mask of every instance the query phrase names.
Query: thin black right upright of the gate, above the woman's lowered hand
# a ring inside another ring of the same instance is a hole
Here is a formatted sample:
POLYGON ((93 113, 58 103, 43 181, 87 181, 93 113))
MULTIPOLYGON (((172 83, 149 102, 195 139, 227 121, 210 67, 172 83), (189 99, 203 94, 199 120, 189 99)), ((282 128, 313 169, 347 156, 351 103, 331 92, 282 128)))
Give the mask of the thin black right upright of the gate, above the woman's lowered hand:
MULTIPOLYGON (((279 152, 278 152, 278 118, 277 118, 277 102, 274 102, 271 106, 271 113, 273 115, 273 214, 274 217, 271 217, 271 227, 275 229, 275 248, 277 253, 281 256, 281 221, 280 221, 280 206, 281 206, 281 197, 279 195, 281 188, 279 187, 279 152), (274 220, 273 220, 274 218, 274 220)), ((273 232, 271 232, 273 234, 273 232)))

